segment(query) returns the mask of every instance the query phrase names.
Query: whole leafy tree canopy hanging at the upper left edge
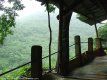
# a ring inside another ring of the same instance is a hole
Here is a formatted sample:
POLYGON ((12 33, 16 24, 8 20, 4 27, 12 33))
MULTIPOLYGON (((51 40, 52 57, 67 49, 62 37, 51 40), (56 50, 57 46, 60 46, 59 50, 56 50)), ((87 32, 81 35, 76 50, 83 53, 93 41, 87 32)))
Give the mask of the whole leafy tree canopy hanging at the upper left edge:
POLYGON ((12 34, 12 27, 15 27, 17 11, 22 10, 24 5, 21 0, 0 0, 0 43, 3 44, 5 37, 12 34), (6 5, 6 4, 9 5, 6 5))

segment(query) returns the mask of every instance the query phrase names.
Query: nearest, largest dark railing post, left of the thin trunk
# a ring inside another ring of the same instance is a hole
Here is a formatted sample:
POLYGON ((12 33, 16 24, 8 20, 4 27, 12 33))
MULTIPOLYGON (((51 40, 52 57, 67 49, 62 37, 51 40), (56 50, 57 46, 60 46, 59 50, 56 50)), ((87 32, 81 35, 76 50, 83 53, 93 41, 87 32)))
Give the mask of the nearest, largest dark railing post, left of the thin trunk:
POLYGON ((34 45, 31 48, 31 77, 40 80, 42 77, 42 47, 34 45))

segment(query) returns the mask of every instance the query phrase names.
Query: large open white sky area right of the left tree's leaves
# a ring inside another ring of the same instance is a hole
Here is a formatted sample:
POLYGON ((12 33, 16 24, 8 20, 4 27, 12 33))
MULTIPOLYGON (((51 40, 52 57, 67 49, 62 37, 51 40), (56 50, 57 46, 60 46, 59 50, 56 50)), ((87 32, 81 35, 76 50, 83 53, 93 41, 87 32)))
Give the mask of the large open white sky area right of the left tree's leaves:
POLYGON ((22 0, 22 3, 25 8, 22 11, 18 11, 20 16, 28 16, 33 13, 39 14, 40 12, 45 11, 45 7, 41 6, 41 3, 35 0, 22 0))

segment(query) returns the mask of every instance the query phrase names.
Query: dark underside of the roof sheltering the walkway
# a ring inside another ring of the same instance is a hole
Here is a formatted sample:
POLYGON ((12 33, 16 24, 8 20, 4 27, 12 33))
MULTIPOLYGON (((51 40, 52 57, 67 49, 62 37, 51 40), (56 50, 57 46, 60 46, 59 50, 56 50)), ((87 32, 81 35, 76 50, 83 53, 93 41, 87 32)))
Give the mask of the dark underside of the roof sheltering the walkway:
MULTIPOLYGON (((44 4, 46 0, 37 0, 44 4)), ((52 4, 59 6, 59 0, 50 0, 52 4)), ((71 11, 86 17, 84 22, 93 25, 107 19, 107 0, 64 0, 66 8, 64 14, 71 11)))

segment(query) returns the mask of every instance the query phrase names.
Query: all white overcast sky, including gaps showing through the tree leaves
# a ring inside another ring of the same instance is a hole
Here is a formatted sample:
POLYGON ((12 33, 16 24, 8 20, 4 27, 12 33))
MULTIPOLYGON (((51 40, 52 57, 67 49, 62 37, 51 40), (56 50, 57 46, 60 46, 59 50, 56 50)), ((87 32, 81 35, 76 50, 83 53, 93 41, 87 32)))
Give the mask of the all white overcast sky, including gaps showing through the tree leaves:
MULTIPOLYGON (((32 14, 35 14, 35 15, 36 14, 40 15, 41 13, 45 14, 46 8, 44 5, 41 5, 41 2, 38 2, 36 0, 22 0, 21 3, 24 4, 25 8, 21 11, 17 11, 19 18, 27 17, 27 16, 32 15, 32 14)), ((8 2, 4 3, 4 5, 7 7, 11 7, 12 4, 13 3, 10 4, 8 2)), ((58 9, 56 9, 56 12, 58 12, 58 9)))

